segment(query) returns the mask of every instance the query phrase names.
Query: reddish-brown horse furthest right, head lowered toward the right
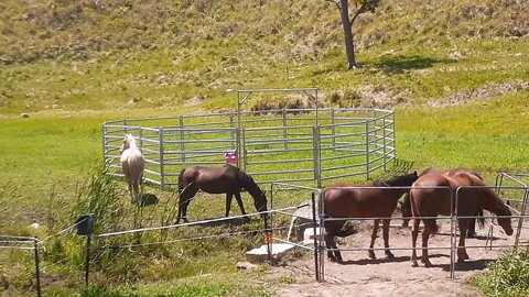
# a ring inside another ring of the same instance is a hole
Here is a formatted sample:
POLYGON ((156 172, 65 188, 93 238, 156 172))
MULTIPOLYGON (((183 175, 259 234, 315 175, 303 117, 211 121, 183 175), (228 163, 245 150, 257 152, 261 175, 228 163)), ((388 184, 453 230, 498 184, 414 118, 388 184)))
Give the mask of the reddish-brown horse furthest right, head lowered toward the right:
MULTIPOLYGON (((452 175, 441 173, 425 174, 413 184, 413 187, 447 187, 447 188, 412 188, 410 190, 411 212, 413 217, 436 217, 439 215, 450 216, 455 210, 455 200, 451 201, 451 197, 455 197, 455 191, 461 186, 481 186, 482 188, 462 188, 457 197, 457 216, 475 216, 481 209, 486 209, 496 216, 508 216, 507 218, 498 218, 498 223, 508 235, 512 234, 510 227, 510 210, 505 202, 496 195, 496 193, 487 188, 485 183, 474 174, 460 172, 452 175)), ((455 198, 454 198, 455 199, 455 198)), ((415 248, 417 237, 419 234, 419 223, 421 219, 413 219, 411 229, 411 243, 415 248)), ((435 219, 422 219, 424 230, 422 233, 422 248, 428 248, 428 239, 436 233, 439 227, 435 219)), ((460 218, 457 224, 460 227, 460 242, 457 249, 457 262, 464 262, 468 258, 465 250, 466 229, 471 219, 460 218)), ((413 266, 417 264, 417 253, 413 250, 411 255, 413 266)), ((427 267, 432 264, 428 257, 428 250, 422 250, 422 258, 427 267)))

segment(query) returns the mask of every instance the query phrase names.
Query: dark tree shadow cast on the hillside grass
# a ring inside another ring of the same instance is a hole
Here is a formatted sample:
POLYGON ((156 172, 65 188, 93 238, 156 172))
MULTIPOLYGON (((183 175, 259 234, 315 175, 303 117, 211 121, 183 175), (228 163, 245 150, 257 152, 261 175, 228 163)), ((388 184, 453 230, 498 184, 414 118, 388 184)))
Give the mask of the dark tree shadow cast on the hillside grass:
POLYGON ((407 70, 425 69, 434 66, 435 64, 452 63, 451 59, 436 59, 421 56, 389 56, 381 57, 379 63, 373 66, 379 68, 387 75, 403 74, 407 70))

